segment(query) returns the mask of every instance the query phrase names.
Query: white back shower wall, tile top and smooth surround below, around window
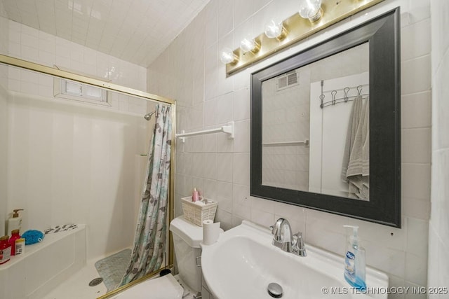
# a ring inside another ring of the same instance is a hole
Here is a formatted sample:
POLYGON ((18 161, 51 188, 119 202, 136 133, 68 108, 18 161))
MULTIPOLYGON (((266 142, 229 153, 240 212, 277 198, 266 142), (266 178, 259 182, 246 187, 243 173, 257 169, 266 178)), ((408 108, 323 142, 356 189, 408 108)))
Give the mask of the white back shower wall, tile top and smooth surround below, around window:
MULTIPOLYGON (((143 67, 7 22, 8 55, 146 90, 143 67)), ((117 94, 112 100, 112 108, 102 109, 55 99, 53 78, 9 67, 2 216, 25 209, 22 231, 85 223, 88 258, 132 244, 140 203, 135 185, 142 182, 138 169, 145 161, 140 154, 149 140, 142 117, 147 102, 117 94)))

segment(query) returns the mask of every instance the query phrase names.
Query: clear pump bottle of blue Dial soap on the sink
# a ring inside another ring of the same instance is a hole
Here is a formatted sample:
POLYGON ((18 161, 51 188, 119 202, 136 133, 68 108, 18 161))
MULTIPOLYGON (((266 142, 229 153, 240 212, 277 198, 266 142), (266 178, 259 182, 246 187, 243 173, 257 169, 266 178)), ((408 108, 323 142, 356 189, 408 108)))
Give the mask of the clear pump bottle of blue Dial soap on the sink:
POLYGON ((344 279, 358 291, 366 290, 365 249, 358 241, 358 226, 343 225, 352 228, 352 235, 346 246, 344 255, 344 279))

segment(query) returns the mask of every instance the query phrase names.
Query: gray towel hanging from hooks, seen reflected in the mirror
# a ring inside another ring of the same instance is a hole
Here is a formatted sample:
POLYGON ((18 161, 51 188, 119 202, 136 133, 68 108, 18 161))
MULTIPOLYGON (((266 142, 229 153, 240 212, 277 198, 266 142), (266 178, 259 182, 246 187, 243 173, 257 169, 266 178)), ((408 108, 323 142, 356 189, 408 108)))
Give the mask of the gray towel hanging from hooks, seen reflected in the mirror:
POLYGON ((368 200, 370 175, 369 100, 354 99, 344 148, 342 179, 348 196, 368 200))

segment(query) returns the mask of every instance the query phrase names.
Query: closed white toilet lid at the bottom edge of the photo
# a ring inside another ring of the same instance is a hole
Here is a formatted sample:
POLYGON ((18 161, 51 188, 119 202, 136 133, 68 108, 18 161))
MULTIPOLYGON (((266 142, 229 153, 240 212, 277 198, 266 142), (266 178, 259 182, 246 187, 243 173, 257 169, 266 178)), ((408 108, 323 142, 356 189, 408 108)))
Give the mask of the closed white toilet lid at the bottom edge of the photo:
POLYGON ((184 288, 177 283, 172 274, 167 274, 136 284, 119 293, 114 299, 147 299, 149 294, 152 299, 181 299, 182 293, 184 288))

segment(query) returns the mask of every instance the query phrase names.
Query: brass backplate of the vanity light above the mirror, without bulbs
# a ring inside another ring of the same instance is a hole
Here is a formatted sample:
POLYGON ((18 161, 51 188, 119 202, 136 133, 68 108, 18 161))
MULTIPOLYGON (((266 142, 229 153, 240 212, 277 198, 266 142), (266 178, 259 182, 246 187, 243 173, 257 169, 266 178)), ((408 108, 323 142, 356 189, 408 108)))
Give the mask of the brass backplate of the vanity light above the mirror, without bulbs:
POLYGON ((301 18, 299 13, 295 13, 290 18, 283 20, 283 27, 288 32, 285 38, 270 39, 262 33, 254 39, 260 45, 260 49, 257 51, 243 52, 240 48, 234 50, 235 59, 226 64, 226 74, 229 76, 240 71, 254 62, 292 46, 307 36, 382 1, 384 0, 323 0, 321 5, 323 15, 316 22, 301 18))

